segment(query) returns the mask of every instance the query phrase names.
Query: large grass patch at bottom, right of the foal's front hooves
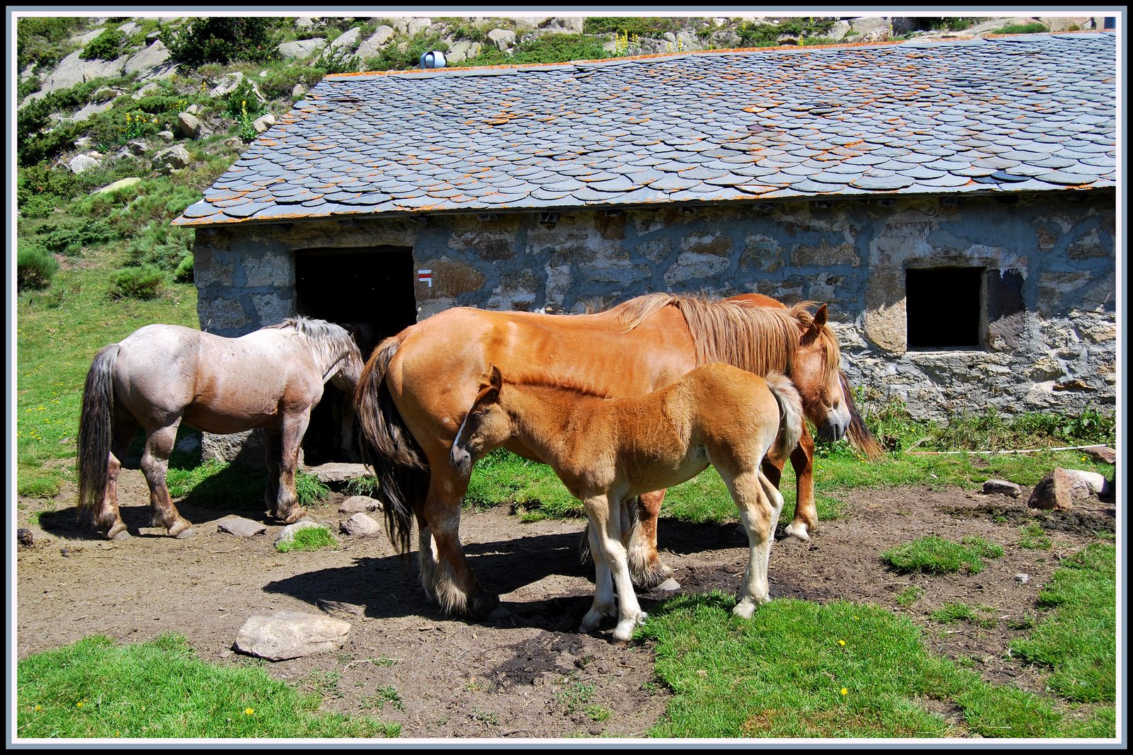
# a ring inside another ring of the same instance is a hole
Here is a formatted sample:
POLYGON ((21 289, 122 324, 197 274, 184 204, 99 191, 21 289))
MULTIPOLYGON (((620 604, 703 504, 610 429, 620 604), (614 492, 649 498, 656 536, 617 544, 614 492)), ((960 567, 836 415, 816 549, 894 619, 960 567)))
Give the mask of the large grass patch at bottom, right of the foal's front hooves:
MULTIPOLYGON (((651 737, 1113 737, 1113 709, 989 685, 929 654, 920 629, 876 606, 767 603, 750 620, 713 592, 666 601, 638 636, 673 693, 651 737), (936 700, 962 724, 929 711, 936 700)), ((1113 655, 1109 657, 1113 664, 1113 655)))

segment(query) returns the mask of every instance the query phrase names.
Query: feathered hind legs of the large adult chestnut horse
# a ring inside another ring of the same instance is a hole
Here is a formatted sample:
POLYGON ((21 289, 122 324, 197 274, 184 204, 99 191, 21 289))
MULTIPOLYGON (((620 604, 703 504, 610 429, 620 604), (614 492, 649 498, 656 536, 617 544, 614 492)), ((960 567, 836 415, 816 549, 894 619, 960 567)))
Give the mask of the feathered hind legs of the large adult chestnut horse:
POLYGON ((432 534, 426 549, 426 530, 420 533, 421 585, 427 594, 436 598, 446 614, 465 614, 472 619, 488 618, 496 614, 500 597, 480 585, 460 544, 460 507, 468 479, 451 469, 451 464, 432 463, 432 456, 429 461, 428 495, 418 518, 418 526, 424 518, 427 532, 432 534), (432 574, 427 570, 429 568, 432 574))

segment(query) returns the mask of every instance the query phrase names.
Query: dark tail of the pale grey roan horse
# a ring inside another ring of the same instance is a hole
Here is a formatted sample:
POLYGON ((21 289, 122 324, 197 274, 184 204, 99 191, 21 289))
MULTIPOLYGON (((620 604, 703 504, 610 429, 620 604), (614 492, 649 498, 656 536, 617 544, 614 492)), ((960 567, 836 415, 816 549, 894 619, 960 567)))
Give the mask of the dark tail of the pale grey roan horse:
POLYGON ((119 345, 103 346, 94 355, 83 386, 83 412, 78 420, 78 506, 97 511, 110 477, 113 435, 114 364, 119 345))

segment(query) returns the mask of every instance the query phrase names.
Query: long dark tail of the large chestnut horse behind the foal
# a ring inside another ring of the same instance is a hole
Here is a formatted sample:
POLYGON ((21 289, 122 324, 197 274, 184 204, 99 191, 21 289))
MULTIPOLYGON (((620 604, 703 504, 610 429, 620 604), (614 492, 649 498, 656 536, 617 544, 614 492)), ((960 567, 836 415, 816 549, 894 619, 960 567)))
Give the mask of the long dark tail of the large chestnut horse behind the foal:
POLYGON ((355 388, 355 412, 361 460, 377 478, 390 542, 404 554, 412 529, 410 495, 427 490, 429 467, 385 386, 385 371, 400 348, 399 337, 391 336, 370 354, 355 388))

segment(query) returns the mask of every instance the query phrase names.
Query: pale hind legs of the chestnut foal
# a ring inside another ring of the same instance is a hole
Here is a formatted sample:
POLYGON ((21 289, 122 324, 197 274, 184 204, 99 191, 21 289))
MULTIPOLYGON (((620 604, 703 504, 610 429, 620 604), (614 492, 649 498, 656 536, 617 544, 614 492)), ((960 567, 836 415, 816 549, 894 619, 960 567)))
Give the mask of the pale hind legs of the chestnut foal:
POLYGON ((767 566, 783 496, 758 469, 724 480, 748 532, 748 565, 740 585, 740 602, 732 612, 751 618, 756 608, 770 600, 767 566))

